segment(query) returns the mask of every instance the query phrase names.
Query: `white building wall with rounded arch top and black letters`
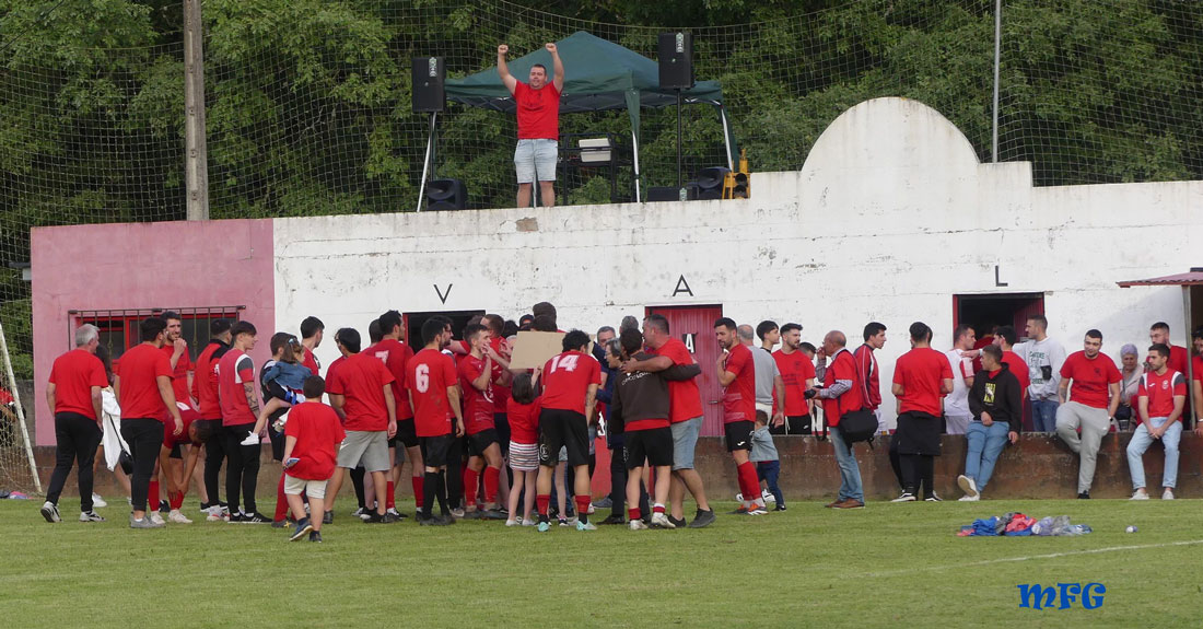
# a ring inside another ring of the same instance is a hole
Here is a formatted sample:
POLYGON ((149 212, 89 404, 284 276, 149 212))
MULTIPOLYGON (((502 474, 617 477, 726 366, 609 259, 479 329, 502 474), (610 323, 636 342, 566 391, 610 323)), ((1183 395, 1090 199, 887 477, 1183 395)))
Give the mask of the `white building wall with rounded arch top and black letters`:
MULTIPOLYGON (((740 322, 800 322, 812 343, 840 328, 852 344, 882 321, 888 382, 912 321, 949 345, 952 295, 1044 292, 1049 333, 1069 351, 1098 327, 1118 360, 1156 320, 1185 343, 1180 289, 1115 283, 1203 262, 1190 254, 1203 182, 1032 188, 1030 164, 978 164, 935 109, 877 99, 837 118, 800 172, 753 174, 752 195, 278 219, 277 321, 313 314, 363 333, 387 308, 516 319, 546 299, 561 327, 592 332, 645 305, 718 303, 740 322), (672 297, 680 275, 693 297, 672 297), (451 285, 445 304, 435 285, 451 285)), ((328 363, 333 343, 319 355, 328 363)))

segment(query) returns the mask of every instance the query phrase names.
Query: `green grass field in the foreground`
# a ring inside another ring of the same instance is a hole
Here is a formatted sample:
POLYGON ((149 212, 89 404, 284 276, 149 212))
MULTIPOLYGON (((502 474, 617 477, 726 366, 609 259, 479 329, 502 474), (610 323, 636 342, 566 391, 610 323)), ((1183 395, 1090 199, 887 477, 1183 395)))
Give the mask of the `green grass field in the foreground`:
MULTIPOLYGON (((344 500, 342 505, 346 505, 344 500)), ((1199 627, 1203 503, 792 503, 700 530, 362 524, 47 524, 0 500, 8 627, 1199 627), (1080 538, 956 538, 974 517, 1069 515, 1080 538), (1127 524, 1139 533, 1126 534, 1127 524), (1020 583, 1098 582, 1103 605, 1019 609, 1020 583)), ((719 505, 730 510, 734 504, 719 505)), ((195 503, 188 509, 196 511, 195 503)))

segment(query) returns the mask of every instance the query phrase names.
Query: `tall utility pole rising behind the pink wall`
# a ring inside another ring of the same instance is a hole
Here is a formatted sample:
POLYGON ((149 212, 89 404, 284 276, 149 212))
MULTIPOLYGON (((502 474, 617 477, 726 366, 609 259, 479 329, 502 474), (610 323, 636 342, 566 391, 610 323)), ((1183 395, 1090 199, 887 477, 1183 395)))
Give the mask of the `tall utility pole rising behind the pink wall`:
POLYGON ((205 23, 201 0, 184 0, 184 177, 188 220, 209 220, 209 168, 205 146, 205 23))

